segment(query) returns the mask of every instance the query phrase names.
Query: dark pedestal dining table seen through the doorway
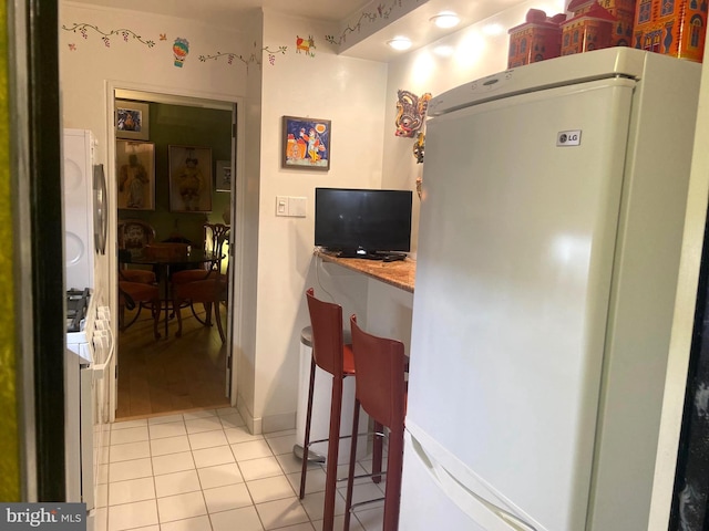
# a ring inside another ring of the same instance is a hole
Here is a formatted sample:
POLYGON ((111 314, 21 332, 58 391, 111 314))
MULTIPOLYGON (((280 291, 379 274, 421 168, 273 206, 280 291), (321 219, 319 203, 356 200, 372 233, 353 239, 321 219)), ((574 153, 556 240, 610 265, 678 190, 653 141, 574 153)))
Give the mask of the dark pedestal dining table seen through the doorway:
MULTIPOLYGON (((133 266, 151 266, 155 271, 157 283, 161 288, 161 301, 165 311, 165 339, 168 337, 168 324, 173 315, 171 310, 173 309, 173 300, 171 292, 169 275, 177 269, 196 269, 198 267, 204 268, 204 264, 214 264, 219 260, 219 256, 213 251, 205 251, 204 249, 188 249, 184 253, 153 253, 140 251, 135 253, 122 252, 119 253, 119 264, 121 268, 133 266)), ((212 267, 212 266, 209 266, 212 267)), ((205 278, 209 271, 204 268, 205 278)), ((120 274, 120 273, 119 273, 120 274)))

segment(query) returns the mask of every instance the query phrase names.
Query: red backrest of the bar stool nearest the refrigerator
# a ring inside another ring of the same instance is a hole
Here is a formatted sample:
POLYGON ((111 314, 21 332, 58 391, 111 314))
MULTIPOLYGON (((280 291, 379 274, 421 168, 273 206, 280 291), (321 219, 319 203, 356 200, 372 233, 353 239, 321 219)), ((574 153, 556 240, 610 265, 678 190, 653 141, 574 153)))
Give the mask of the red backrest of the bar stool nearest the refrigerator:
POLYGON ((403 343, 368 334, 350 317, 357 399, 374 420, 397 426, 405 413, 407 356, 403 343))

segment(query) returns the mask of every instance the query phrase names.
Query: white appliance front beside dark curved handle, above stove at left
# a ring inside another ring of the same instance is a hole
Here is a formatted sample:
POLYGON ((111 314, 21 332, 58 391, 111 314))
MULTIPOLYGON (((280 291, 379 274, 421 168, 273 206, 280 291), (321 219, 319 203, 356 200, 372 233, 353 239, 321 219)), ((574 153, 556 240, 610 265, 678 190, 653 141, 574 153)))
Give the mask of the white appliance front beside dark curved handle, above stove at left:
POLYGON ((66 288, 94 288, 93 139, 64 129, 64 254, 66 288))

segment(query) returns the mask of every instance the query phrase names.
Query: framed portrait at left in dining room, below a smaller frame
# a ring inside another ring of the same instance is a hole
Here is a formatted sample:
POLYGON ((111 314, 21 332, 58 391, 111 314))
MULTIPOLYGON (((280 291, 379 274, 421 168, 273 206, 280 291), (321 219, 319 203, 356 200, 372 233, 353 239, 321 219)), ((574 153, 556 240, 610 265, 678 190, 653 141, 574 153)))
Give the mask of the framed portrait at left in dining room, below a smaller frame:
POLYGON ((155 144, 115 140, 119 208, 155 210, 155 144))

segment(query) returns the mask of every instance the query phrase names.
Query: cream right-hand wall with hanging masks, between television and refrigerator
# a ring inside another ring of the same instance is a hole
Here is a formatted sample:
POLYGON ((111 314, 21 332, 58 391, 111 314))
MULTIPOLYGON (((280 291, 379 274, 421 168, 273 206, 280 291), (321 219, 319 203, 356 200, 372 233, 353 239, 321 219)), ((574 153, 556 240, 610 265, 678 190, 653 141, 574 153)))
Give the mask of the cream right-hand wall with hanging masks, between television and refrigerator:
MULTIPOLYGON (((482 22, 463 28, 433 44, 403 54, 400 59, 389 63, 381 186, 382 188, 414 190, 411 235, 413 257, 415 257, 417 250, 420 210, 415 181, 423 175, 423 164, 418 164, 413 156, 415 138, 394 136, 398 91, 408 90, 419 96, 429 92, 435 96, 462 83, 505 70, 507 67, 508 43, 506 30, 522 23, 526 12, 532 8, 543 9, 547 15, 553 15, 563 12, 564 1, 538 2, 531 0, 482 22), (491 32, 491 30, 496 30, 496 32, 491 32), (449 46, 451 55, 436 54, 435 49, 441 45, 449 46)), ((367 294, 364 322, 368 331, 402 341, 409 352, 412 294, 376 280, 368 281, 367 294)))

